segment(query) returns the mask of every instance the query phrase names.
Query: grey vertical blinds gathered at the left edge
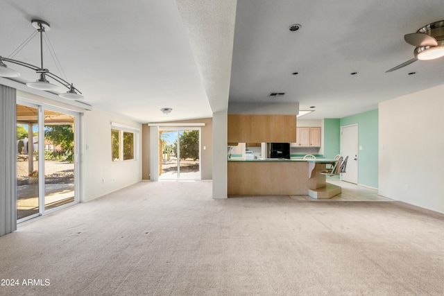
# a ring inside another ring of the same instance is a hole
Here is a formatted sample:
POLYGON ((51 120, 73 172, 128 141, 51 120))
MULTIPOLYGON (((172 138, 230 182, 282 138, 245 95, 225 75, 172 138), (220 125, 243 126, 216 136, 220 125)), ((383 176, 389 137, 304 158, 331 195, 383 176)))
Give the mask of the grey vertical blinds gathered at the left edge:
POLYGON ((0 85, 0 236, 17 229, 17 98, 0 85))

